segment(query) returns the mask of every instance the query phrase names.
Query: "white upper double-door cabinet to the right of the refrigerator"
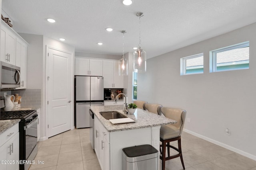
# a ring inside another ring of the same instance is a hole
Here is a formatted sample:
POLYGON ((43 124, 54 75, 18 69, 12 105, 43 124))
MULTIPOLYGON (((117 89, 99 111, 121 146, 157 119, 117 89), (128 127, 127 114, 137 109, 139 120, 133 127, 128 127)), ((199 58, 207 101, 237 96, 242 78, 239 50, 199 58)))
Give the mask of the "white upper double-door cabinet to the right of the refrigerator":
POLYGON ((124 88, 124 76, 118 75, 118 61, 103 61, 104 88, 124 88))

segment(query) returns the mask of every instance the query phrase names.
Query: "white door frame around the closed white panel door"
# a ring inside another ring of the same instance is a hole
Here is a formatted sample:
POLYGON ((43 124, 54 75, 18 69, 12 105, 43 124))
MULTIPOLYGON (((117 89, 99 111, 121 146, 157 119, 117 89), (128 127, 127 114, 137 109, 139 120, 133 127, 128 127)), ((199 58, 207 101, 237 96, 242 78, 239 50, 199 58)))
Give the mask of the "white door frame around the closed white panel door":
POLYGON ((70 129, 75 129, 74 127, 74 53, 70 52, 70 51, 65 51, 63 49, 58 49, 49 45, 46 45, 46 53, 45 53, 45 57, 46 57, 46 76, 45 76, 45 112, 46 112, 46 138, 48 139, 48 49, 54 49, 57 51, 62 51, 64 53, 68 53, 72 56, 71 59, 71 70, 72 72, 70 72, 72 80, 71 80, 71 114, 70 114, 70 129))

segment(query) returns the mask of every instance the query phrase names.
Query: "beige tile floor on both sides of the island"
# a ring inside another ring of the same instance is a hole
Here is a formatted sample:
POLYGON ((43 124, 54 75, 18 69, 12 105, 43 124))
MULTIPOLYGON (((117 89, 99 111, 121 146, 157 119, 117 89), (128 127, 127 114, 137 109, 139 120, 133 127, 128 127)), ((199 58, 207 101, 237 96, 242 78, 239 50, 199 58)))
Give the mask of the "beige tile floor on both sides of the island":
MULTIPOLYGON (((186 170, 256 170, 256 161, 186 132, 182 133, 182 153, 186 170)), ((31 165, 30 170, 100 170, 88 128, 38 142, 38 160, 44 164, 31 165)), ((182 170, 180 158, 166 161, 165 169, 182 170)))

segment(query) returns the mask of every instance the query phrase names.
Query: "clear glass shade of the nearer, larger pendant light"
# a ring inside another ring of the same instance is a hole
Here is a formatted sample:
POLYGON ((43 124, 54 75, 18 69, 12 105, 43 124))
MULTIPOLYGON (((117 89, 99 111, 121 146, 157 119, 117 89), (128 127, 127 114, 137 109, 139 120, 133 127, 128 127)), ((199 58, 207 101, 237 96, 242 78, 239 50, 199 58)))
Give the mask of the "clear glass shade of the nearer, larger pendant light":
POLYGON ((134 72, 146 72, 146 51, 138 49, 133 53, 133 70, 134 72))

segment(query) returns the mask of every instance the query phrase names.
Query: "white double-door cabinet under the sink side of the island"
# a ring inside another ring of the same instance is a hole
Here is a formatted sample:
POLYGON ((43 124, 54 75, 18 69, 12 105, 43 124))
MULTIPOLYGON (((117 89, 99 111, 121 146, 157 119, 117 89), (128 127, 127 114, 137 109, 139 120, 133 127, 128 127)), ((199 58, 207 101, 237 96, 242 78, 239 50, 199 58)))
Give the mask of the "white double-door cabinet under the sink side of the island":
POLYGON ((109 132, 94 116, 94 150, 102 170, 110 169, 109 132))

